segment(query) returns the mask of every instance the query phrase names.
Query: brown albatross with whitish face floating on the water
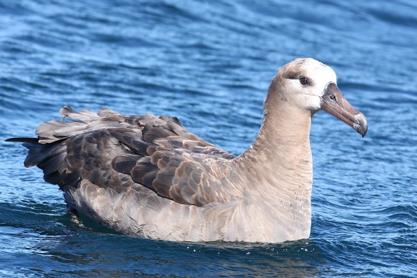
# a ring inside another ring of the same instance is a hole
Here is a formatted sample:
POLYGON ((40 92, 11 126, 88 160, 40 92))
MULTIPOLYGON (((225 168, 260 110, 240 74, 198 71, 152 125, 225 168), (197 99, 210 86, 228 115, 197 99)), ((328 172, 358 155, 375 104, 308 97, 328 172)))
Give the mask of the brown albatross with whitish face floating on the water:
POLYGON ((68 210, 120 233, 172 241, 284 242, 308 238, 313 162, 311 118, 324 110, 365 136, 365 116, 314 59, 294 59, 267 91, 255 141, 233 155, 189 132, 178 118, 110 109, 60 110, 29 148, 68 210), (72 121, 63 121, 72 118, 72 121))

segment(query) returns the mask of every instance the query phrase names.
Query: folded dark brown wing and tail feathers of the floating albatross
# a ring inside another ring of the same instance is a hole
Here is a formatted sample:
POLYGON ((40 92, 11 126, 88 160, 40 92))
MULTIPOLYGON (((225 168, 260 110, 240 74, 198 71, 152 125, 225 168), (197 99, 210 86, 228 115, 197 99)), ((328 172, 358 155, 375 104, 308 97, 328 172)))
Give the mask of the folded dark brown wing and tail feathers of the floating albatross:
POLYGON ((116 192, 147 187, 159 197, 195 206, 216 201, 210 167, 235 156, 186 130, 178 118, 152 114, 97 114, 63 107, 61 118, 36 130, 25 165, 37 165, 49 183, 77 187, 82 180, 116 192))

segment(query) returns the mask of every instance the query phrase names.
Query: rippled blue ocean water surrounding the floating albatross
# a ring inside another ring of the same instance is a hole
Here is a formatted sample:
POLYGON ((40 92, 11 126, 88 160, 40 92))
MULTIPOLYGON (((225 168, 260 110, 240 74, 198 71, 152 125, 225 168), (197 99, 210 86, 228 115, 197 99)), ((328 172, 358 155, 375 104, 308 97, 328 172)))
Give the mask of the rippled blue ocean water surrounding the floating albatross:
POLYGON ((417 2, 0 0, 0 277, 417 277, 417 2), (65 213, 23 167, 58 109, 178 116, 242 153, 276 70, 330 65, 368 118, 313 118, 313 224, 281 244, 164 242, 65 213))

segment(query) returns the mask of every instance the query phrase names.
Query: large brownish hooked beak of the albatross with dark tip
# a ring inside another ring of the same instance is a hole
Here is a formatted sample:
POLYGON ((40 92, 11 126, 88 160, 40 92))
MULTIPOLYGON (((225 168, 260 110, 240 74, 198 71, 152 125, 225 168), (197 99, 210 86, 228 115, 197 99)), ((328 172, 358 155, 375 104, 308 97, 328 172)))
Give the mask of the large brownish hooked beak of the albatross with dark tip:
POLYGON ((340 121, 350 125, 362 137, 368 131, 368 122, 365 116, 347 102, 342 93, 340 93, 338 86, 333 82, 327 84, 326 90, 324 91, 324 95, 322 96, 322 109, 340 121))

